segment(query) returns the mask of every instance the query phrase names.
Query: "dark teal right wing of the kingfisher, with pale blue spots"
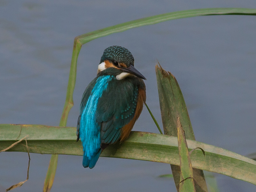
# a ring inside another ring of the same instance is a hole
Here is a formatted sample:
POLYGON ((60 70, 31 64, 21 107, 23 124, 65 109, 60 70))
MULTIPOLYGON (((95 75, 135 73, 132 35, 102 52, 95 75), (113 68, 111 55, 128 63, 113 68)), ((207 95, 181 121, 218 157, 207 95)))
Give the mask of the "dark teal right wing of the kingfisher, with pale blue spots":
POLYGON ((96 121, 101 124, 101 143, 115 143, 122 127, 128 124, 136 110, 138 85, 131 80, 113 80, 98 101, 96 121))

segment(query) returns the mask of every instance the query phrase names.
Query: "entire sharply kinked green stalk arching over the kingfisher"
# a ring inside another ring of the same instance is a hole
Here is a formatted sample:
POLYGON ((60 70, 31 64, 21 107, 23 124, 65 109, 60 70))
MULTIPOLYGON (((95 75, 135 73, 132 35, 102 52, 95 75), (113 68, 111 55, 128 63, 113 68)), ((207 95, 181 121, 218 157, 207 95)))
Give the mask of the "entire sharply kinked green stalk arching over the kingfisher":
MULTIPOLYGON (((114 25, 111 27, 99 29, 96 31, 92 31, 80 36, 77 36, 74 40, 74 48, 73 48, 73 54, 72 54, 72 60, 71 60, 71 67, 70 67, 70 73, 69 73, 69 80, 68 80, 68 89, 67 89, 67 96, 66 101, 63 109, 63 113, 61 116, 60 125, 66 126, 67 123, 67 117, 70 109, 73 106, 73 92, 76 82, 76 63, 78 54, 80 52, 81 46, 89 41, 92 41, 93 39, 103 37, 110 35, 112 33, 122 32, 131 28, 136 28, 140 26, 145 25, 152 25, 159 22, 167 21, 167 20, 174 20, 174 19, 181 19, 181 18, 187 18, 187 17, 196 17, 196 16, 202 16, 202 15, 256 15, 255 9, 244 9, 244 8, 213 8, 213 9, 195 9, 195 10, 186 10, 186 11, 179 11, 179 12, 171 12, 171 13, 165 13, 161 15, 156 15, 152 17, 147 17, 143 19, 133 20, 129 22, 125 22, 122 24, 114 25)), ((54 180, 54 175, 56 171, 50 171, 49 169, 55 169, 57 168, 57 159, 58 156, 53 155, 49 164, 49 168, 47 171, 47 175, 45 178, 45 186, 47 185, 47 190, 50 191, 54 180), (54 163, 54 165, 52 163, 54 163)), ((44 192, 46 192, 44 191, 44 192)))

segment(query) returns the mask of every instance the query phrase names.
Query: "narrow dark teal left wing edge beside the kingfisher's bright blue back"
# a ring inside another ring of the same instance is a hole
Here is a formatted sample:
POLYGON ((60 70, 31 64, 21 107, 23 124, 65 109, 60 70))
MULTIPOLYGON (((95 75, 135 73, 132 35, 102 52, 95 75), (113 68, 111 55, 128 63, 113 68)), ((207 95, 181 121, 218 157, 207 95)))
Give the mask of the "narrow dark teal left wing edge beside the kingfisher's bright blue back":
POLYGON ((82 115, 82 112, 84 111, 84 107, 88 101, 88 98, 91 95, 92 89, 93 89, 94 85, 96 84, 96 81, 97 81, 97 77, 95 79, 93 79, 92 82, 86 87, 84 94, 82 96, 82 100, 81 100, 81 104, 80 104, 80 115, 78 117, 77 126, 76 126, 76 136, 77 136, 76 141, 78 141, 80 138, 79 131, 80 131, 81 115, 82 115))

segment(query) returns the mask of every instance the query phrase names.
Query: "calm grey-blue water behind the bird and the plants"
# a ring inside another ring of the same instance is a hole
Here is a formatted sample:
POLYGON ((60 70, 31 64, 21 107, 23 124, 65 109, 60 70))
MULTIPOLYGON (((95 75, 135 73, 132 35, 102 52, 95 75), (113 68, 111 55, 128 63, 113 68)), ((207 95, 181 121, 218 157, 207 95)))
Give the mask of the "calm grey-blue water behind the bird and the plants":
MULTIPOLYGON (((59 125, 76 36, 165 12, 213 7, 256 8, 256 1, 0 1, 0 123, 59 125)), ((76 126, 82 94, 103 50, 121 45, 147 78, 147 103, 159 123, 156 60, 176 76, 196 140, 242 155, 256 152, 255 21, 255 16, 172 20, 83 45, 67 125, 76 126)), ((134 130, 158 132, 145 109, 134 130)), ((50 155, 30 156, 30 178, 16 191, 42 191, 50 155)), ((26 179, 26 153, 1 153, 0 162, 0 191, 26 179)), ((175 191, 172 179, 158 178, 170 172, 168 164, 103 157, 90 170, 83 168, 82 156, 62 155, 52 191, 175 191)), ((256 190, 215 176, 221 191, 256 190)))

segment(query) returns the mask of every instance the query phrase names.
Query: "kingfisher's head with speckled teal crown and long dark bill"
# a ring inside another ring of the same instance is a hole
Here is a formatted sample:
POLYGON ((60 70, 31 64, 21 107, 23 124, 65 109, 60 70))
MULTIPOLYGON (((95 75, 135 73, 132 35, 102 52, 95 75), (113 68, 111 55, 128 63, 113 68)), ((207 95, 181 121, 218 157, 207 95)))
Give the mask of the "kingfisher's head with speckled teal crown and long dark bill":
POLYGON ((116 75, 116 79, 118 80, 128 76, 137 76, 146 80, 146 78, 134 68, 132 53, 121 46, 115 45, 104 50, 98 66, 98 73, 108 68, 114 68, 115 71, 118 71, 118 75, 116 75))

